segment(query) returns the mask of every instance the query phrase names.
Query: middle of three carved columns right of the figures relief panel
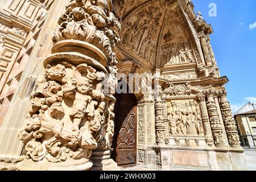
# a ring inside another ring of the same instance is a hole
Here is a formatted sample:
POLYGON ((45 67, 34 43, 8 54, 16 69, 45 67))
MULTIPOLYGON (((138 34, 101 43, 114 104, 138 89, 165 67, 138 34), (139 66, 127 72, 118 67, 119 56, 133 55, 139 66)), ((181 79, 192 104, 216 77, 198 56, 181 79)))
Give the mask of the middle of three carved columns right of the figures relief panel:
POLYGON ((214 144, 217 147, 225 146, 224 135, 221 127, 221 121, 218 117, 216 102, 214 101, 211 91, 207 91, 205 93, 207 95, 207 109, 210 118, 210 127, 212 128, 214 144))

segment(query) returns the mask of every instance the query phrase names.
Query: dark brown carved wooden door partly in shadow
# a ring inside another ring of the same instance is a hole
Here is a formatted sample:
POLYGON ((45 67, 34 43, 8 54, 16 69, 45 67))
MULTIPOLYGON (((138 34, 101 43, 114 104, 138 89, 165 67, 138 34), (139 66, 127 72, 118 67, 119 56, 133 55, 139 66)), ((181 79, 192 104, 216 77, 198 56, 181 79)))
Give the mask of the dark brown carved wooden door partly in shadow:
POLYGON ((115 134, 112 157, 118 166, 136 164, 137 99, 133 94, 115 96, 115 134))

